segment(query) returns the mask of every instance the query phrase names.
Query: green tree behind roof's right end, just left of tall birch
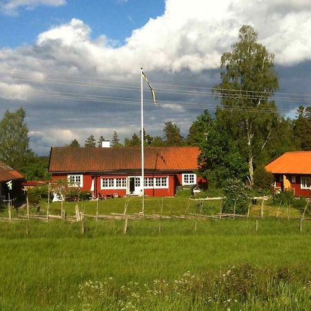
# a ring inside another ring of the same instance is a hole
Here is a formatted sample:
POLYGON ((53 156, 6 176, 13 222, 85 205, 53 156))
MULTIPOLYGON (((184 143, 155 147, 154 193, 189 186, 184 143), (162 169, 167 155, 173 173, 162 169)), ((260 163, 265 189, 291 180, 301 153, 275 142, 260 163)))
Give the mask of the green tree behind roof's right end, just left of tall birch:
POLYGON ((200 144, 207 139, 207 134, 209 133, 212 123, 213 118, 209 111, 203 111, 203 113, 196 118, 196 121, 192 122, 189 128, 187 144, 190 146, 200 146, 200 144))

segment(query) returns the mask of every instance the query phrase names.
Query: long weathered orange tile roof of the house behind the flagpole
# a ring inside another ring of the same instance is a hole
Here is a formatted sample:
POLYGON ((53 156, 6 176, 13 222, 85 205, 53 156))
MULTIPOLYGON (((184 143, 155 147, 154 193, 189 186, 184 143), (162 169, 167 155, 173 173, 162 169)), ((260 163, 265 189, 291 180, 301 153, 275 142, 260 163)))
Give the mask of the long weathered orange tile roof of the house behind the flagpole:
MULTIPOLYGON (((198 169, 199 154, 198 147, 146 147, 144 149, 144 169, 194 171, 198 169)), ((139 147, 53 147, 50 152, 50 173, 139 169, 141 169, 139 147)))

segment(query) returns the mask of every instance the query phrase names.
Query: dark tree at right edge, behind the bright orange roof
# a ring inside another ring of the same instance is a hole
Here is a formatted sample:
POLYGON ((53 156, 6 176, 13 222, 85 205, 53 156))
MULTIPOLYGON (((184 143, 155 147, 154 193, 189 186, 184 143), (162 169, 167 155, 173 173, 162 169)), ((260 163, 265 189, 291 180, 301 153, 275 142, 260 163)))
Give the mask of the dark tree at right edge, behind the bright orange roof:
POLYGON ((294 120, 294 135, 299 149, 311 150, 311 106, 299 106, 298 116, 294 120))

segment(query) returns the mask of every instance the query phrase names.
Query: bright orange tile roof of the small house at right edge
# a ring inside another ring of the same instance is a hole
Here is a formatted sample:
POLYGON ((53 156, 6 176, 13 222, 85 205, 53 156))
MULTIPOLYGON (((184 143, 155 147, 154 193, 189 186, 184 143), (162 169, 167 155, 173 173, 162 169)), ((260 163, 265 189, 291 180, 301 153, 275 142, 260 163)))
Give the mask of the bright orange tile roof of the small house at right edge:
POLYGON ((272 173, 311 174, 311 151, 286 152, 265 169, 272 173))

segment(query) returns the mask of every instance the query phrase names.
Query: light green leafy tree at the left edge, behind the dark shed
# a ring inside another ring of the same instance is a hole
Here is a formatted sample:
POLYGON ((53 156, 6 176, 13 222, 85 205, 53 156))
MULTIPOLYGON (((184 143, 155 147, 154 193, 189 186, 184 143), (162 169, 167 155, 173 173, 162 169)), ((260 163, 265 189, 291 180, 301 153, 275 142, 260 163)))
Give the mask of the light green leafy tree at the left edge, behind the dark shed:
POLYGON ((0 122, 0 160, 22 173, 33 158, 25 117, 21 107, 12 113, 6 111, 0 122))

